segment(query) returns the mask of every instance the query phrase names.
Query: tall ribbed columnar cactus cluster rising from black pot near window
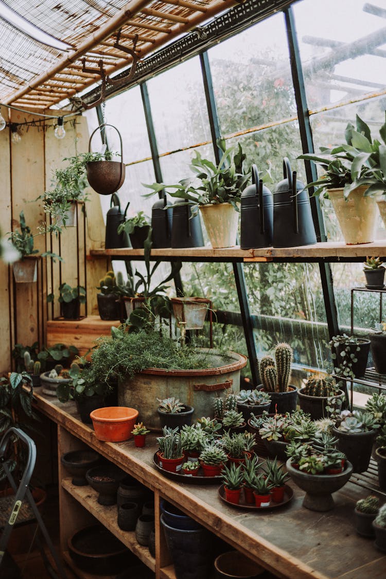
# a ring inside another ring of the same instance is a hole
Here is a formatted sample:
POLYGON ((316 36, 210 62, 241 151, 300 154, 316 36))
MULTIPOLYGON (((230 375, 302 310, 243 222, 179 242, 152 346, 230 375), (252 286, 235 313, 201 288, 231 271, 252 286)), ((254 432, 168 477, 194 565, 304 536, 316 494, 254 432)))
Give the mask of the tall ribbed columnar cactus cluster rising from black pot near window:
POLYGON ((260 379, 266 392, 288 391, 291 376, 292 348, 281 343, 275 347, 275 362, 271 356, 263 356, 259 364, 260 379))

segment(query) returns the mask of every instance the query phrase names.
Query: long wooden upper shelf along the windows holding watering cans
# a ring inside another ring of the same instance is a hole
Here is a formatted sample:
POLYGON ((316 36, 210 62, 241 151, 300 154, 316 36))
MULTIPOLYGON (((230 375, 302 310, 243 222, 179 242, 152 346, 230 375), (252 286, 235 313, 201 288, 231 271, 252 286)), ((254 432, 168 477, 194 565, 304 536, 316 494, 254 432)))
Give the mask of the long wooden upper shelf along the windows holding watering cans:
MULTIPOLYGON (((111 259, 143 259, 144 250, 118 248, 113 250, 91 250, 90 255, 95 257, 109 257, 111 259)), ((281 261, 283 259, 315 259, 325 261, 362 261, 366 255, 386 256, 386 240, 374 241, 360 245, 345 245, 341 243, 316 243, 314 245, 302 245, 300 247, 273 248, 242 250, 240 246, 213 249, 211 247, 192 247, 185 249, 153 249, 152 258, 182 259, 182 261, 244 261, 266 262, 281 261)))

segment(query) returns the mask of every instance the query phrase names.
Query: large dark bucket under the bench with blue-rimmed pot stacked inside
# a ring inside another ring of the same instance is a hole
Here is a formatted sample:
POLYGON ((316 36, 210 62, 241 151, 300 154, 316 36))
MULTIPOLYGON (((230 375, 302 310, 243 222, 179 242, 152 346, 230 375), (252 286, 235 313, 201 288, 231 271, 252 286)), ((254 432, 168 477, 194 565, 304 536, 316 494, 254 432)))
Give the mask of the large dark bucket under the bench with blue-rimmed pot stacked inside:
POLYGON ((204 527, 195 530, 174 529, 164 521, 163 514, 161 524, 176 579, 208 579, 213 561, 211 533, 204 527))

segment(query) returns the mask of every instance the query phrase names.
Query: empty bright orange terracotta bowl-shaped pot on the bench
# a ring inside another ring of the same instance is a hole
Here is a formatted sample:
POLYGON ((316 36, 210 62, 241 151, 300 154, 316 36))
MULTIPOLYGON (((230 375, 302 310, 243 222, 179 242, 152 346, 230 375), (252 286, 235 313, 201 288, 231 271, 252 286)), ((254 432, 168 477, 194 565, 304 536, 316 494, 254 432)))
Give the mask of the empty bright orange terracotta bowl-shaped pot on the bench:
POLYGON ((138 410, 127 406, 107 406, 90 413, 98 440, 123 442, 133 438, 131 431, 138 417, 138 410))

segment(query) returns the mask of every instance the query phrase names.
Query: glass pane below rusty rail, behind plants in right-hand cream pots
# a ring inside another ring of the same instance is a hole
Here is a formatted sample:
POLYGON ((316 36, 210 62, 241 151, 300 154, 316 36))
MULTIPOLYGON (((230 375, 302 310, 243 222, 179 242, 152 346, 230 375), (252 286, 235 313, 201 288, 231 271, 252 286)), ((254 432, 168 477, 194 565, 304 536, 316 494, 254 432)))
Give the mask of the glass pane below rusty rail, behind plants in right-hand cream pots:
MULTIPOLYGON (((344 143, 345 127, 348 122, 355 125, 356 114, 369 125, 372 138, 380 140, 379 128, 384 123, 385 109, 386 96, 382 96, 311 115, 315 152, 319 152, 321 146, 330 147, 344 143)), ((322 211, 328 240, 343 241, 336 214, 329 200, 322 200, 322 211)), ((385 228, 380 215, 378 215, 376 239, 385 239, 385 228)))

